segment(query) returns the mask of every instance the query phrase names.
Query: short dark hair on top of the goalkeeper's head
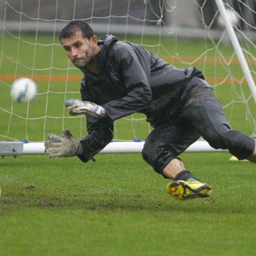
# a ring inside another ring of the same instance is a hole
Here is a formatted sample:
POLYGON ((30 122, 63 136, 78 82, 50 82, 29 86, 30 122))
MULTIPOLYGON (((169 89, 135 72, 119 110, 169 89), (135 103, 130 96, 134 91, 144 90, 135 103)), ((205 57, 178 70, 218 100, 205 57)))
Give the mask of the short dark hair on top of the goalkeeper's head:
POLYGON ((83 37, 86 39, 90 39, 94 35, 93 29, 86 22, 83 22, 82 20, 73 20, 63 27, 59 34, 59 40, 72 37, 76 31, 82 31, 83 37))

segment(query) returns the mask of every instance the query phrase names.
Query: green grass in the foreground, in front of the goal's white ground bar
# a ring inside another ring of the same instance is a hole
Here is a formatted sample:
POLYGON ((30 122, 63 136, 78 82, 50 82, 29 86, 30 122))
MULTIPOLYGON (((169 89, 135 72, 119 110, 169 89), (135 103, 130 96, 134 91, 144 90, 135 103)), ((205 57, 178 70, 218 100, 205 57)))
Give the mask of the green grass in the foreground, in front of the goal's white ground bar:
POLYGON ((140 155, 98 155, 86 165, 1 159, 1 256, 254 255, 255 166, 227 153, 182 158, 212 197, 172 199, 140 155))

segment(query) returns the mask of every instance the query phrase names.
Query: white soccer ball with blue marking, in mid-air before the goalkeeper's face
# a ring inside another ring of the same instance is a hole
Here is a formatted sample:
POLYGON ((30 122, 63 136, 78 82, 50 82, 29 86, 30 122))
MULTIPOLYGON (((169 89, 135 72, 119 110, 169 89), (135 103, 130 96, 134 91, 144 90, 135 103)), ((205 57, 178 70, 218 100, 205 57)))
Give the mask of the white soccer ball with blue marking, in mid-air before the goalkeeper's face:
POLYGON ((10 96, 17 102, 33 101, 37 96, 37 84, 29 78, 19 78, 13 82, 10 96))

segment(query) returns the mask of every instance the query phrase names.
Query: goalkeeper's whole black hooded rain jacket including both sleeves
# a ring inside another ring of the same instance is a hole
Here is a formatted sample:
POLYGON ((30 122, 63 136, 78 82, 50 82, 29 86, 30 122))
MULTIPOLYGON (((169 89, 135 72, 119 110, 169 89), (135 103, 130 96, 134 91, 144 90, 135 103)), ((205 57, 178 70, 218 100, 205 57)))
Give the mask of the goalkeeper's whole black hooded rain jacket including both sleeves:
POLYGON ((83 101, 103 106, 108 118, 87 118, 88 135, 81 139, 84 152, 79 156, 84 162, 112 140, 114 120, 135 112, 146 114, 153 125, 172 119, 195 89, 194 84, 187 86, 189 80, 204 79, 195 67, 176 69, 141 46, 112 35, 106 35, 99 46, 95 61, 101 73, 81 69, 81 96, 83 101))

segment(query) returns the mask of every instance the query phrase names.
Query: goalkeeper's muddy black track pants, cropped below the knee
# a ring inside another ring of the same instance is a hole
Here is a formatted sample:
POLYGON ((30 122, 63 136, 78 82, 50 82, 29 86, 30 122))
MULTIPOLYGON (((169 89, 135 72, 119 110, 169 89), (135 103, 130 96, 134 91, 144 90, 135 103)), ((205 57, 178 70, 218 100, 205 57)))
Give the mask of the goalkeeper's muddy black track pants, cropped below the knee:
POLYGON ((204 88, 189 97, 178 120, 155 127, 142 155, 162 174, 163 168, 200 136, 213 148, 227 149, 238 159, 247 158, 255 148, 255 140, 231 129, 216 95, 211 88, 204 88))

